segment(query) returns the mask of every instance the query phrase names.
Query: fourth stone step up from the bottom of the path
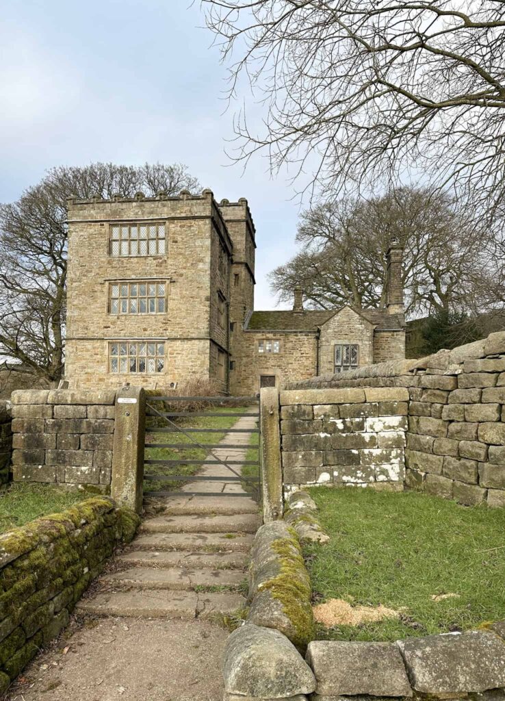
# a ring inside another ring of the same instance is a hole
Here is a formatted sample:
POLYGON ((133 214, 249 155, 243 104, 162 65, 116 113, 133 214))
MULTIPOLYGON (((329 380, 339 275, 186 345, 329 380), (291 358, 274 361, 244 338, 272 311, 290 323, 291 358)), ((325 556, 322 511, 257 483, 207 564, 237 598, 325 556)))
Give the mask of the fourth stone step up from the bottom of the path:
POLYGON ((134 540, 137 550, 205 550, 249 552, 254 536, 245 533, 141 533, 134 540))

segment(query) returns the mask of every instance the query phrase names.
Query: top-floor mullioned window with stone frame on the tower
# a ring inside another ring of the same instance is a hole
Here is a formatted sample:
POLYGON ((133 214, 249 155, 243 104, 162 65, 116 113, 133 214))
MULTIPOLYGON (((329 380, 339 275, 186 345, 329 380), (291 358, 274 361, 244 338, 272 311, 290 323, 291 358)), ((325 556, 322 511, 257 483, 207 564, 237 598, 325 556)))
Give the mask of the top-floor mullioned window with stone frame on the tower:
POLYGON ((145 258, 167 253, 166 222, 111 222, 109 224, 109 257, 145 258), (145 229, 145 231, 142 231, 145 229), (154 231, 153 231, 154 230, 154 231), (144 236, 145 234, 145 236, 144 236), (145 252, 144 246, 145 245, 145 252), (140 252, 142 249, 142 252, 140 252), (123 252, 127 250, 127 252, 123 252))

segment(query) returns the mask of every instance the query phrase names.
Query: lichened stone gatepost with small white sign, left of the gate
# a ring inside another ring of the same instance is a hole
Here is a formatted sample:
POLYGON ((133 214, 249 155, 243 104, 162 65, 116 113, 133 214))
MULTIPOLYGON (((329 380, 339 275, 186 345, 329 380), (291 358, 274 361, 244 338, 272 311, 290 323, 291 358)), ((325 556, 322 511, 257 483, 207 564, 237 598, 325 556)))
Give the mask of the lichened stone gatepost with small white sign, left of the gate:
POLYGON ((116 394, 111 496, 139 514, 144 482, 146 393, 123 387, 116 394))

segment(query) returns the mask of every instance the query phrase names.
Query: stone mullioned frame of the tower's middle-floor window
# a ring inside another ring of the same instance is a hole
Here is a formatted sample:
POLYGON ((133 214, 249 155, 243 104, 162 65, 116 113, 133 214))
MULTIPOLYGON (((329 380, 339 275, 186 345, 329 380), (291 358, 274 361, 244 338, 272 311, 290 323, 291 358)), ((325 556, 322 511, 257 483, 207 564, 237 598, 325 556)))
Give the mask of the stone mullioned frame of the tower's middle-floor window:
POLYGON ((109 281, 109 294, 107 297, 107 311, 109 314, 116 316, 141 316, 144 314, 154 315, 154 314, 166 314, 167 313, 167 291, 168 291, 168 281, 167 280, 110 280, 109 281), (141 294, 141 287, 145 285, 146 294, 141 294), (149 294, 152 290, 149 289, 150 286, 154 285, 154 294, 149 294), (124 295, 123 287, 127 287, 127 294, 124 295), (113 296, 113 288, 118 288, 118 296, 113 296), (136 287, 136 290, 132 290, 132 287, 136 287), (160 287, 162 290, 160 291, 160 287), (118 311, 113 311, 114 301, 118 301, 118 311), (134 306, 132 303, 136 302, 135 306, 137 311, 131 311, 134 306), (146 311, 140 311, 142 302, 146 303, 146 311), (123 304, 126 302, 126 304, 123 304), (151 303, 153 303, 154 311, 151 311, 151 303), (123 307, 126 307, 127 311, 122 311, 123 307))

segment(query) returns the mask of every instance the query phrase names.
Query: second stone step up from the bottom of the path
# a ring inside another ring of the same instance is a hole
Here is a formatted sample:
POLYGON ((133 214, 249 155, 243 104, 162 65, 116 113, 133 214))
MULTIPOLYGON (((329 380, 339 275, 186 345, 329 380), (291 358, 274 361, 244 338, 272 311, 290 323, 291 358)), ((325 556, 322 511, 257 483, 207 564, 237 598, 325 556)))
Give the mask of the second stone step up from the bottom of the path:
POLYGON ((195 587, 225 587, 237 589, 246 578, 241 570, 191 569, 189 567, 132 567, 102 577, 101 583, 125 589, 195 589, 195 587))

